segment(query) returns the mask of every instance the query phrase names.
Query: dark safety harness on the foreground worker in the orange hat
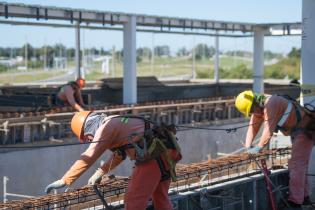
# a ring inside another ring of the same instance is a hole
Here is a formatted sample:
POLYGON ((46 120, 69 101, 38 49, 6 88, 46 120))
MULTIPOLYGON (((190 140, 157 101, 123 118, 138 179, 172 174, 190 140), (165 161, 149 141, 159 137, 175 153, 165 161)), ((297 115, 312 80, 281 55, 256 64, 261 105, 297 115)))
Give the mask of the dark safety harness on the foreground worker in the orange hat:
POLYGON ((172 181, 176 181, 175 166, 181 159, 181 150, 175 137, 176 129, 175 125, 166 125, 161 123, 156 125, 150 120, 147 120, 140 116, 117 116, 121 117, 121 123, 128 123, 129 118, 142 119, 145 123, 144 135, 137 142, 133 141, 133 135, 129 136, 128 143, 123 146, 112 148, 113 152, 117 152, 122 159, 126 159, 126 150, 134 148, 136 151, 136 165, 156 160, 161 171, 161 181, 172 178, 172 181), (154 126, 151 128, 151 124, 154 126), (178 158, 174 160, 170 155, 170 149, 178 152, 178 158), (169 165, 169 170, 166 169, 163 159, 169 165))

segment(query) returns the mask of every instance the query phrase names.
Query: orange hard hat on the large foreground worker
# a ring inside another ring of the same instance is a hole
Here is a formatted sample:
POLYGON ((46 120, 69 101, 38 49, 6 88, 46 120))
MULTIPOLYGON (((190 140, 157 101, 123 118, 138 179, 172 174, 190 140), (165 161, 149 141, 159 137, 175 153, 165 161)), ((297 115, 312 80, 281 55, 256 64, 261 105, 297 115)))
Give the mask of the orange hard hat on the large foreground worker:
POLYGON ((71 130, 79 138, 80 142, 84 142, 84 123, 91 111, 76 112, 71 120, 71 130))

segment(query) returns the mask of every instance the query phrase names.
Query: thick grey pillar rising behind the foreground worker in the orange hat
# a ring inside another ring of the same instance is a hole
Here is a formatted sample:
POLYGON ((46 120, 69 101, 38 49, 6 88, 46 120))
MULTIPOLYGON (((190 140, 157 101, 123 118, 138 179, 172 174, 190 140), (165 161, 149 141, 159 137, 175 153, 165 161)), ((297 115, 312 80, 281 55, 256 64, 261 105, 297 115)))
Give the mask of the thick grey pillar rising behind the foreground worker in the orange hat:
POLYGON ((136 16, 124 24, 124 104, 137 103, 136 26, 136 16))

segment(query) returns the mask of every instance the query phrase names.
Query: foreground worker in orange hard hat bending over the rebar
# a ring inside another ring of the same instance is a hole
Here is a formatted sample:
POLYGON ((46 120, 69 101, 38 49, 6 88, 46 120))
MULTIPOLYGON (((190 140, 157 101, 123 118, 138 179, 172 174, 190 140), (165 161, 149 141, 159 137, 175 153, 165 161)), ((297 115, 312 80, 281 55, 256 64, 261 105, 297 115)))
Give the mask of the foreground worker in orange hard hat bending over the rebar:
POLYGON ((71 185, 110 149, 113 154, 96 170, 88 184, 100 183, 102 176, 128 156, 136 164, 125 193, 125 209, 144 210, 150 198, 155 209, 172 209, 168 189, 170 178, 176 179, 175 164, 181 159, 175 127, 151 126, 141 117, 77 112, 71 121, 72 131, 81 143, 91 144, 60 180, 46 187, 46 193, 71 185))

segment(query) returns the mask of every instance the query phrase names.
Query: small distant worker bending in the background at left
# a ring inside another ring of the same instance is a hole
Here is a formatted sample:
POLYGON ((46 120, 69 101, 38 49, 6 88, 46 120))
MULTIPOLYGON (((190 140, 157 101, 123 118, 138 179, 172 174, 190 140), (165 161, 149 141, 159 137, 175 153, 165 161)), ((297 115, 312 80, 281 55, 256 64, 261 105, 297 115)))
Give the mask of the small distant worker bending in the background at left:
POLYGON ((56 95, 56 105, 70 105, 76 111, 84 111, 84 103, 81 89, 85 86, 85 80, 78 78, 76 81, 62 85, 56 95))

